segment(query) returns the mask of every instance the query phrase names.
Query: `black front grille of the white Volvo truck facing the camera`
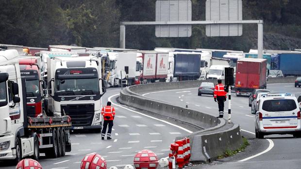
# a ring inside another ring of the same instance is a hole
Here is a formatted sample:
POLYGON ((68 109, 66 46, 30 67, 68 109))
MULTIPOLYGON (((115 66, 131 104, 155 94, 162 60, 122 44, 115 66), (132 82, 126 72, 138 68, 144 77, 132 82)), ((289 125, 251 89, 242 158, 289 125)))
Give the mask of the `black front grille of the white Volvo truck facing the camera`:
POLYGON ((72 126, 90 126, 94 117, 94 104, 61 105, 61 113, 71 117, 72 126))

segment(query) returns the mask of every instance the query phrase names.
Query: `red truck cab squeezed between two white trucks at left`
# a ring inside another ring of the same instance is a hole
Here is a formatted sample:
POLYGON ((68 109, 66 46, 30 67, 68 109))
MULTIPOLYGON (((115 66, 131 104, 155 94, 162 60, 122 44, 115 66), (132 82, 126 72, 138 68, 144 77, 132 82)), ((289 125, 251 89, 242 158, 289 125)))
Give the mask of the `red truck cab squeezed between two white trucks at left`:
POLYGON ((27 116, 42 115, 42 92, 40 85, 40 70, 36 59, 19 59, 21 77, 26 79, 27 116))

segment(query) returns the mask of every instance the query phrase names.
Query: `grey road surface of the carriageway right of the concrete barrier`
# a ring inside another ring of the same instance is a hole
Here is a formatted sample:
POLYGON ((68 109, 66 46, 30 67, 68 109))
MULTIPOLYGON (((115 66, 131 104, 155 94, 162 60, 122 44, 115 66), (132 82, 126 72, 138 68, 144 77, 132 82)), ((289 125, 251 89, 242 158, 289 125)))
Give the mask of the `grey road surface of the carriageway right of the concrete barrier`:
MULTIPOLYGON (((271 92, 290 92, 298 97, 301 95, 301 88, 295 88, 293 83, 268 84, 267 89, 271 92)), ((217 103, 213 96, 198 96, 198 89, 183 89, 171 91, 159 91, 151 93, 141 93, 146 97, 167 101, 169 103, 188 108, 196 109, 204 113, 218 116, 217 103)), ((233 93, 234 94, 234 93, 233 93)), ((255 138, 254 115, 251 114, 251 108, 248 105, 248 97, 232 97, 232 122, 239 123, 242 134, 255 138)), ((225 103, 225 119, 227 118, 228 102, 225 103)), ((209 169, 282 169, 282 168, 300 168, 301 138, 293 138, 292 135, 269 135, 263 140, 258 140, 259 147, 253 147, 250 154, 237 155, 234 160, 218 165, 204 165, 203 168, 209 169), (259 154, 263 151, 265 154, 259 154), (253 156, 255 155, 255 156, 253 156), (253 156, 253 157, 252 157, 253 156), (248 159, 247 157, 252 157, 248 159), (247 158, 247 159, 246 159, 247 158), (240 161, 242 160, 242 161, 240 161)))

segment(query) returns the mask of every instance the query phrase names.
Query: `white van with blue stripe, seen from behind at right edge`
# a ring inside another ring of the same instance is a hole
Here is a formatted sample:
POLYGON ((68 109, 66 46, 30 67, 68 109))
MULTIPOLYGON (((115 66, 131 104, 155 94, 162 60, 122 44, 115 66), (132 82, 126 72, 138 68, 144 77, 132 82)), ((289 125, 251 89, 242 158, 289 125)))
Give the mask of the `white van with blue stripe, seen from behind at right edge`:
POLYGON ((289 93, 268 93, 259 99, 255 116, 256 138, 271 134, 301 137, 301 116, 297 98, 289 93))

